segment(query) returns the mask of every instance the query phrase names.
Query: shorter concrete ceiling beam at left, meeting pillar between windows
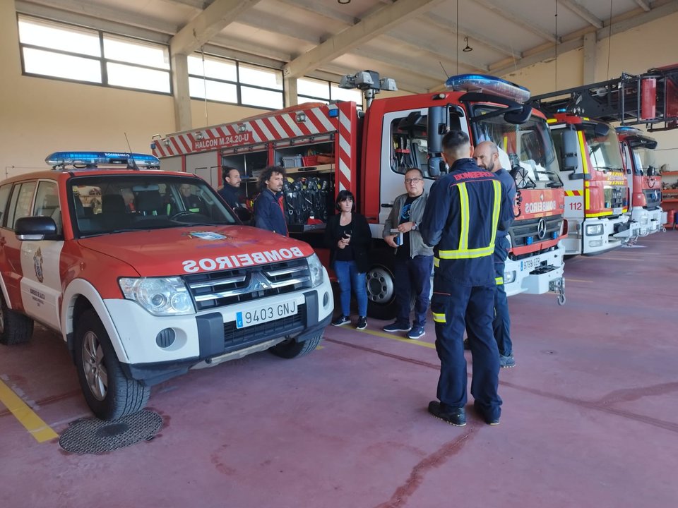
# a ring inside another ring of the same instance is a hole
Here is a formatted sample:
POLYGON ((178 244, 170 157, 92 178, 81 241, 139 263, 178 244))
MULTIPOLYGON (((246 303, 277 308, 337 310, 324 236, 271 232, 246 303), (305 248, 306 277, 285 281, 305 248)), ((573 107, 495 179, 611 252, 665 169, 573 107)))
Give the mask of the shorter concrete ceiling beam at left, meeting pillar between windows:
POLYGON ((215 0, 169 42, 172 54, 190 54, 260 0, 215 0))

